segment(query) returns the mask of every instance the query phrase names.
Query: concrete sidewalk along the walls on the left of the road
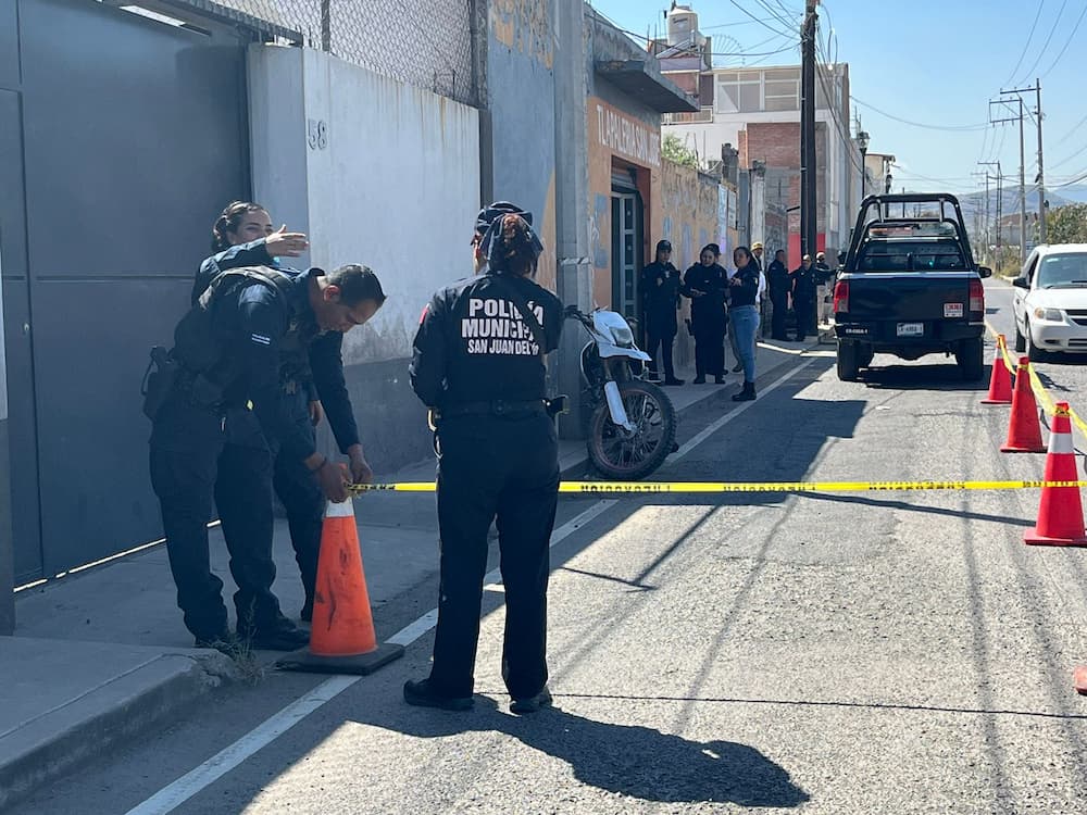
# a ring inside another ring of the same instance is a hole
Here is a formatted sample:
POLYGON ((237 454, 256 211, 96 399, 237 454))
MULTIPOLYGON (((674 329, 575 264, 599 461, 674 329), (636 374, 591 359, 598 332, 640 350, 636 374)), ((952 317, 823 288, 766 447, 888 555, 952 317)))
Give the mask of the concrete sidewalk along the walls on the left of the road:
MULTIPOLYGON (((795 364, 813 344, 760 343, 759 379, 769 381, 772 372, 795 364)), ((694 378, 691 372, 679 376, 694 378)), ((682 416, 723 387, 736 390, 741 378, 666 390, 682 416)), ((584 441, 562 441, 560 464, 564 477, 589 475, 584 441)), ((379 474, 384 481, 433 478, 433 461, 379 474)), ((417 590, 437 575, 434 496, 371 493, 355 502, 355 516, 375 624, 378 635, 388 637, 414 618, 403 614, 433 606, 434 598, 417 590), (385 613, 398 600, 400 617, 385 613)), ((229 607, 235 586, 217 528, 211 542, 212 566, 229 607)), ((275 591, 284 613, 297 617, 302 588, 283 519, 276 522, 274 546, 275 591)), ((15 613, 15 636, 0 637, 0 808, 239 678, 227 657, 190 648, 162 546, 20 592, 15 613)), ((262 663, 276 656, 257 654, 262 663)))

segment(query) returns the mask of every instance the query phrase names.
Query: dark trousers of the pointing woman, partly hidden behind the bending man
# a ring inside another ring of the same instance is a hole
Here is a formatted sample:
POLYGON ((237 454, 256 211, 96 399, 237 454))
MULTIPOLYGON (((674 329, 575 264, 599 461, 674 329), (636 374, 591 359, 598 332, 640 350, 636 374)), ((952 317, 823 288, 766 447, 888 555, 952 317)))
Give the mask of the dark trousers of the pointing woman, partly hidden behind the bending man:
MULTIPOLYGON (((315 444, 316 431, 310 421, 309 397, 303 390, 288 397, 290 415, 310 443, 315 444)), ((302 576, 305 602, 313 602, 313 590, 317 581, 317 556, 321 554, 321 527, 324 523, 325 498, 313 474, 300 460, 283 455, 277 446, 272 446, 275 464, 272 484, 287 513, 290 543, 295 549, 295 560, 302 576)))

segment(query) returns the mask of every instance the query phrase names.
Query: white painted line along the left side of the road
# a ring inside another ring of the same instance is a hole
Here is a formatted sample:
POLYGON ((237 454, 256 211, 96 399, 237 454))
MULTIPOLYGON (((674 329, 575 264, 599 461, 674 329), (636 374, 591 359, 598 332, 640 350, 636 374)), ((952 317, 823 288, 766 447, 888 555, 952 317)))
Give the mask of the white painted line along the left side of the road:
MULTIPOLYGON (((780 387, 786 381, 791 379, 794 375, 803 371, 814 361, 815 359, 813 358, 792 368, 788 374, 764 388, 762 393, 770 393, 775 388, 780 387)), ((738 406, 730 410, 724 416, 719 418, 679 448, 676 453, 669 457, 669 463, 678 461, 683 456, 687 455, 691 450, 724 427, 725 424, 736 418, 744 413, 744 411, 754 404, 755 402, 742 402, 738 406)), ((561 543, 571 535, 583 528, 586 524, 610 510, 616 503, 619 503, 619 501, 615 499, 597 501, 585 512, 576 515, 574 518, 555 529, 551 535, 551 547, 554 548, 557 544, 561 543)), ((496 584, 501 579, 501 570, 496 568, 488 572, 486 577, 484 577, 484 585, 496 584)), ((408 625, 397 631, 388 639, 388 641, 407 648, 434 628, 437 623, 438 610, 432 609, 411 625, 408 625)), ((258 751, 271 744, 291 727, 297 725, 326 702, 329 702, 338 697, 360 679, 362 679, 361 676, 336 676, 332 679, 325 680, 305 695, 291 702, 278 713, 273 714, 271 717, 265 719, 263 724, 258 725, 253 730, 250 730, 229 747, 215 753, 215 755, 198 766, 196 769, 186 773, 176 781, 163 787, 159 792, 151 795, 151 798, 147 799, 143 803, 129 810, 127 815, 166 815, 166 813, 173 812, 190 798, 203 791, 247 758, 254 755, 258 751)))

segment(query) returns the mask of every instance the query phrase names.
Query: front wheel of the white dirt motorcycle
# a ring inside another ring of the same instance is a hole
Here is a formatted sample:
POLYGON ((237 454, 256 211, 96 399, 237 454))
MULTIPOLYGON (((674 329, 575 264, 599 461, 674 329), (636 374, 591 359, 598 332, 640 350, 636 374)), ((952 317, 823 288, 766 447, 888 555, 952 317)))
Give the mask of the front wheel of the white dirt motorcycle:
POLYGON ((589 460, 605 478, 633 481, 657 469, 673 451, 676 411, 655 385, 639 379, 619 386, 634 434, 616 427, 602 401, 589 421, 589 460))

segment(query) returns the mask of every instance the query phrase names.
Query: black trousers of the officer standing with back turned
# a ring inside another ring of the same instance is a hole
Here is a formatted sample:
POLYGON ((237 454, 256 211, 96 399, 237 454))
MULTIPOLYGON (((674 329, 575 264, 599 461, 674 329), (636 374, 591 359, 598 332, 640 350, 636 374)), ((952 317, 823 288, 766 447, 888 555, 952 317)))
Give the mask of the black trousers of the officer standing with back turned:
POLYGON ((505 637, 502 678, 510 695, 547 682, 549 546, 559 498, 559 442, 544 413, 523 418, 461 416, 438 429, 441 588, 430 682, 466 697, 475 684, 487 531, 498 518, 505 637))

